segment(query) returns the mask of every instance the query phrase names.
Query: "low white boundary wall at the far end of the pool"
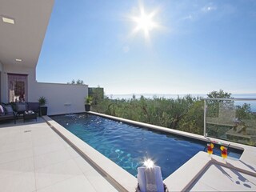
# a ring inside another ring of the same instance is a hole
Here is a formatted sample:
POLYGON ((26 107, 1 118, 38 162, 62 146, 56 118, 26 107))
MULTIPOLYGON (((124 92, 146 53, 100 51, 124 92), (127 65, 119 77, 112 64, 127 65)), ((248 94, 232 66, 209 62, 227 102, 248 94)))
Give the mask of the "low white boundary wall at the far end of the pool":
POLYGON ((80 113, 85 111, 87 95, 87 85, 35 82, 30 101, 36 102, 41 96, 46 97, 49 115, 80 113))

